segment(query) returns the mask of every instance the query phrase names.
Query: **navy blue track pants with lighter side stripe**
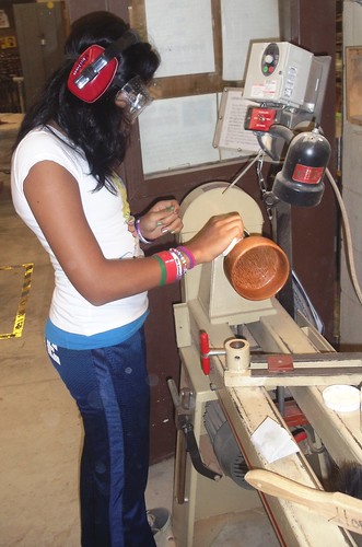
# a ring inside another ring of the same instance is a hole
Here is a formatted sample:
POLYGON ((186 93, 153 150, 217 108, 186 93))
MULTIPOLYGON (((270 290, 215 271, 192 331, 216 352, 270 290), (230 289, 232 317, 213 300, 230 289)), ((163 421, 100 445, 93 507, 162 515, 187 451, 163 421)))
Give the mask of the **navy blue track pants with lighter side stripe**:
POLYGON ((83 418, 82 547, 154 547, 144 507, 150 389, 143 329, 109 348, 46 344, 83 418))

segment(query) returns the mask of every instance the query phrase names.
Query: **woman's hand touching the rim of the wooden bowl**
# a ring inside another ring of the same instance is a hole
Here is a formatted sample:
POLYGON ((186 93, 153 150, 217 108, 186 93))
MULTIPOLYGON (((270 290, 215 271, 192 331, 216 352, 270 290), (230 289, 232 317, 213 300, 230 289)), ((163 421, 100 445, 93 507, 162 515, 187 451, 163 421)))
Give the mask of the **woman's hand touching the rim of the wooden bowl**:
POLYGON ((211 217, 205 226, 187 243, 195 256, 196 264, 209 263, 221 255, 231 242, 241 240, 244 223, 238 212, 211 217))

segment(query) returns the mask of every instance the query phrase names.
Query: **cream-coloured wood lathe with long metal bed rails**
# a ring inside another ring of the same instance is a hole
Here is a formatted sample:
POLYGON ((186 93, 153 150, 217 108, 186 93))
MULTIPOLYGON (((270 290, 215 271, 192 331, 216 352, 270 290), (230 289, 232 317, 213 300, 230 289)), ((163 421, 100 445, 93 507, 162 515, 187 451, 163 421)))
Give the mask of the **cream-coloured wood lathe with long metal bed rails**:
MULTIPOLYGON (((257 203, 238 187, 226 188, 226 183, 214 182, 186 197, 182 242, 192 237, 211 216, 235 210, 250 234, 261 234, 257 203)), ((292 318, 275 296, 243 299, 225 278, 223 259, 220 256, 188 271, 183 301, 174 305, 182 360, 179 391, 171 382, 178 429, 173 504, 176 545, 212 545, 211 531, 223 520, 230 522, 232 515, 237 521, 237 515, 258 508, 267 512, 280 545, 357 545, 353 534, 322 511, 318 514, 297 501, 258 492, 245 480, 236 484, 221 470, 206 424, 210 403, 220 407, 227 421, 245 464, 244 476, 248 469, 264 469, 323 490, 328 458, 337 464, 362 462, 360 405, 355 411, 336 411, 323 397, 328 385, 360 385, 361 356, 335 352, 302 313, 296 310, 292 318), (205 340, 200 341, 202 333, 207 334, 208 351, 205 340), (207 374, 202 359, 209 359, 207 374), (254 435, 267 418, 295 442, 285 408, 276 400, 278 386, 288 391, 324 450, 317 455, 317 465, 297 449, 268 461, 255 444, 254 435), (213 525, 209 525, 210 537, 205 543, 208 523, 213 525)))

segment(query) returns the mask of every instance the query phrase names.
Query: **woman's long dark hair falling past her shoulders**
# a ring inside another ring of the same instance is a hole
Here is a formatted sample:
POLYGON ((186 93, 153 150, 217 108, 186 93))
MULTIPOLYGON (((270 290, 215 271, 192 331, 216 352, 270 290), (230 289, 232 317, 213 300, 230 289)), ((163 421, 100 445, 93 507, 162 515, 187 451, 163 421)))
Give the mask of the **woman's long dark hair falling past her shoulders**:
POLYGON ((129 28, 113 13, 98 11, 82 16, 71 26, 65 46, 65 60, 49 78, 36 103, 26 113, 15 147, 35 127, 56 123, 81 149, 96 178, 96 190, 104 186, 114 191, 110 174, 121 163, 128 146, 130 124, 125 108, 115 104, 119 89, 132 77, 140 75, 149 83, 160 65, 157 53, 147 42, 139 42, 122 54, 115 80, 94 103, 74 96, 67 86, 69 73, 78 57, 91 45, 104 48, 129 28))

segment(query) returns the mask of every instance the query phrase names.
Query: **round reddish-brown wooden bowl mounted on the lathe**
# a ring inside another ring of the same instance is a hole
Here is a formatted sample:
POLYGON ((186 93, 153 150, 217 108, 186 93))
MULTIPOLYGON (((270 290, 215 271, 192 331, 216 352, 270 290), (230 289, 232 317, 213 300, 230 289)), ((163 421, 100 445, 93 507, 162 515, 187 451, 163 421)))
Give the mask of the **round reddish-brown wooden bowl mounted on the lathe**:
POLYGON ((247 300, 270 299, 285 284, 290 265, 285 253, 261 235, 244 237, 224 257, 224 272, 247 300))

